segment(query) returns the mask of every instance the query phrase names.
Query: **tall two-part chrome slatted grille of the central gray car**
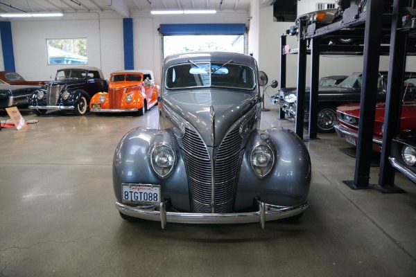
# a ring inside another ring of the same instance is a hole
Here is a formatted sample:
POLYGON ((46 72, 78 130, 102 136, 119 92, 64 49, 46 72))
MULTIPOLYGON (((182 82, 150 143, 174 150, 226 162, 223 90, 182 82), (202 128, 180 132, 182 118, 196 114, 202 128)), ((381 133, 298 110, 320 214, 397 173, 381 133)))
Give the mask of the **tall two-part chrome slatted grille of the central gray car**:
POLYGON ((186 129, 182 139, 187 156, 191 189, 191 208, 196 213, 232 213, 240 164, 242 139, 239 129, 229 132, 218 148, 215 159, 215 199, 211 199, 211 162, 207 146, 196 132, 186 129))

